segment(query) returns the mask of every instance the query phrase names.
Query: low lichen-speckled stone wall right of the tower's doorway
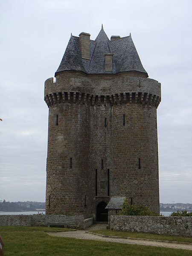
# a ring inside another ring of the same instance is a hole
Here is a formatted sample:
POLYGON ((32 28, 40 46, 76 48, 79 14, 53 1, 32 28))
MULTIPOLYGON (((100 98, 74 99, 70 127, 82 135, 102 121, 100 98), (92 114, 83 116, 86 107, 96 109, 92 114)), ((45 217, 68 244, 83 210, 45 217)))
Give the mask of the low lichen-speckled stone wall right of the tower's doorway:
POLYGON ((192 237, 192 217, 111 216, 111 230, 192 237))

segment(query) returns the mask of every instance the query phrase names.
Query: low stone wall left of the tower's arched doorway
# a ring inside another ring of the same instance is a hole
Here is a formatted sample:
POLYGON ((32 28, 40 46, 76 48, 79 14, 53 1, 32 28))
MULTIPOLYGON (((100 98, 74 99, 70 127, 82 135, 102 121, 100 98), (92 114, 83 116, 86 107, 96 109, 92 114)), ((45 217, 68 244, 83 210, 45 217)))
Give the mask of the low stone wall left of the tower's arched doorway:
MULTIPOLYGON (((86 221, 86 220, 85 220, 86 221)), ((83 215, 0 215, 0 226, 46 226, 48 223, 84 228, 83 215)), ((89 221, 86 221, 87 225, 89 221)))

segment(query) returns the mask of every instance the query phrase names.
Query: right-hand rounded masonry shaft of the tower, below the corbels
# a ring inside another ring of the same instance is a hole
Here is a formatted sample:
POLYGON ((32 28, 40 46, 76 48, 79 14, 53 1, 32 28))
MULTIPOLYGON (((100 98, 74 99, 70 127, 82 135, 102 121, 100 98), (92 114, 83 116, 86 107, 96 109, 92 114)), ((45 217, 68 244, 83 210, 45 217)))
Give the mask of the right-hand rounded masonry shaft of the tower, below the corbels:
POLYGON ((159 213, 156 118, 153 106, 113 106, 111 196, 125 196, 130 204, 142 204, 159 213))

